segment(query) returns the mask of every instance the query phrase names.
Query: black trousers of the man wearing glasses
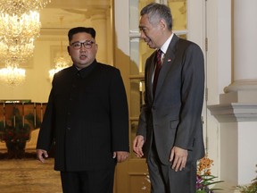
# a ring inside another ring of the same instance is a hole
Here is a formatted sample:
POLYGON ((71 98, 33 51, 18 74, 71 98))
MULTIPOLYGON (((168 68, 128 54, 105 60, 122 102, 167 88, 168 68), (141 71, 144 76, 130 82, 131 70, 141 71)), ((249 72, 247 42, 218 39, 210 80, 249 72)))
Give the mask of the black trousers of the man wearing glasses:
POLYGON ((87 172, 61 172, 63 193, 112 193, 114 168, 87 172))

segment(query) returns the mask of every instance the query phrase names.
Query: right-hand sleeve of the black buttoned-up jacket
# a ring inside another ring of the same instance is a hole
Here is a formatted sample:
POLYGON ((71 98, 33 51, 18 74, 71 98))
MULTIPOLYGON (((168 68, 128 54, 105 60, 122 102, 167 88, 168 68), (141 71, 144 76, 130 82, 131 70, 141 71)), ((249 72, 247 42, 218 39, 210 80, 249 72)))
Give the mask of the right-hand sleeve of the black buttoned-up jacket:
POLYGON ((129 152, 129 110, 125 87, 116 70, 110 87, 112 150, 129 152))

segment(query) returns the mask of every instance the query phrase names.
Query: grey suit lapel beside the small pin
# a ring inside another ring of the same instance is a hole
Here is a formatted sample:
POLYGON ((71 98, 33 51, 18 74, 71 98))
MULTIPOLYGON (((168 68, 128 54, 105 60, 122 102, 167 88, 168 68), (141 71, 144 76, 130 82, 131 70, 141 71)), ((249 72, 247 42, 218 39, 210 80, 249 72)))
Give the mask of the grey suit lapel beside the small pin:
MULTIPOLYGON (((170 41, 170 45, 167 49, 166 54, 164 55, 164 59, 162 62, 162 70, 160 71, 159 78, 157 81, 157 86, 155 90, 155 97, 158 96, 158 94, 161 91, 162 84, 167 76, 168 71, 170 71, 170 68, 172 66, 172 63, 175 60, 175 53, 177 51, 177 43, 178 43, 178 37, 174 34, 173 38, 170 41)), ((153 87, 152 87, 153 88, 153 87)), ((152 89, 153 90, 153 89, 152 89)), ((152 91, 153 93, 153 91, 152 91)))

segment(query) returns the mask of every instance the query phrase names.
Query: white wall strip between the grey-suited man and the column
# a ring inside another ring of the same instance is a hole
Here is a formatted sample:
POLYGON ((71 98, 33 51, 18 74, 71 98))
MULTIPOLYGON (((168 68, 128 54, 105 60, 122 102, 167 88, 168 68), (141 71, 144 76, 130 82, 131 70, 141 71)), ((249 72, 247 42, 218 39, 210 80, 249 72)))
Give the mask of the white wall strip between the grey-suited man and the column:
MULTIPOLYGON (((231 1, 206 1, 206 38, 208 38, 207 105, 220 102, 220 94, 231 83, 231 1)), ((214 160, 213 174, 220 177, 220 124, 207 111, 207 147, 214 160)))

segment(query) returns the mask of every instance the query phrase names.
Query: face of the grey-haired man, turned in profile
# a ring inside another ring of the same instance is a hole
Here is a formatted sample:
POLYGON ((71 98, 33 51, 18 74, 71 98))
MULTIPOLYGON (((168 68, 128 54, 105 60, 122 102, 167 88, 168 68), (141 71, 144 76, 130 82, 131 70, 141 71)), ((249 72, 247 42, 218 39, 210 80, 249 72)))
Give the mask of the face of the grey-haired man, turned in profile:
POLYGON ((148 15, 145 14, 141 17, 139 22, 140 38, 143 38, 150 48, 160 48, 160 39, 162 38, 162 30, 160 23, 154 25, 150 23, 148 15))

